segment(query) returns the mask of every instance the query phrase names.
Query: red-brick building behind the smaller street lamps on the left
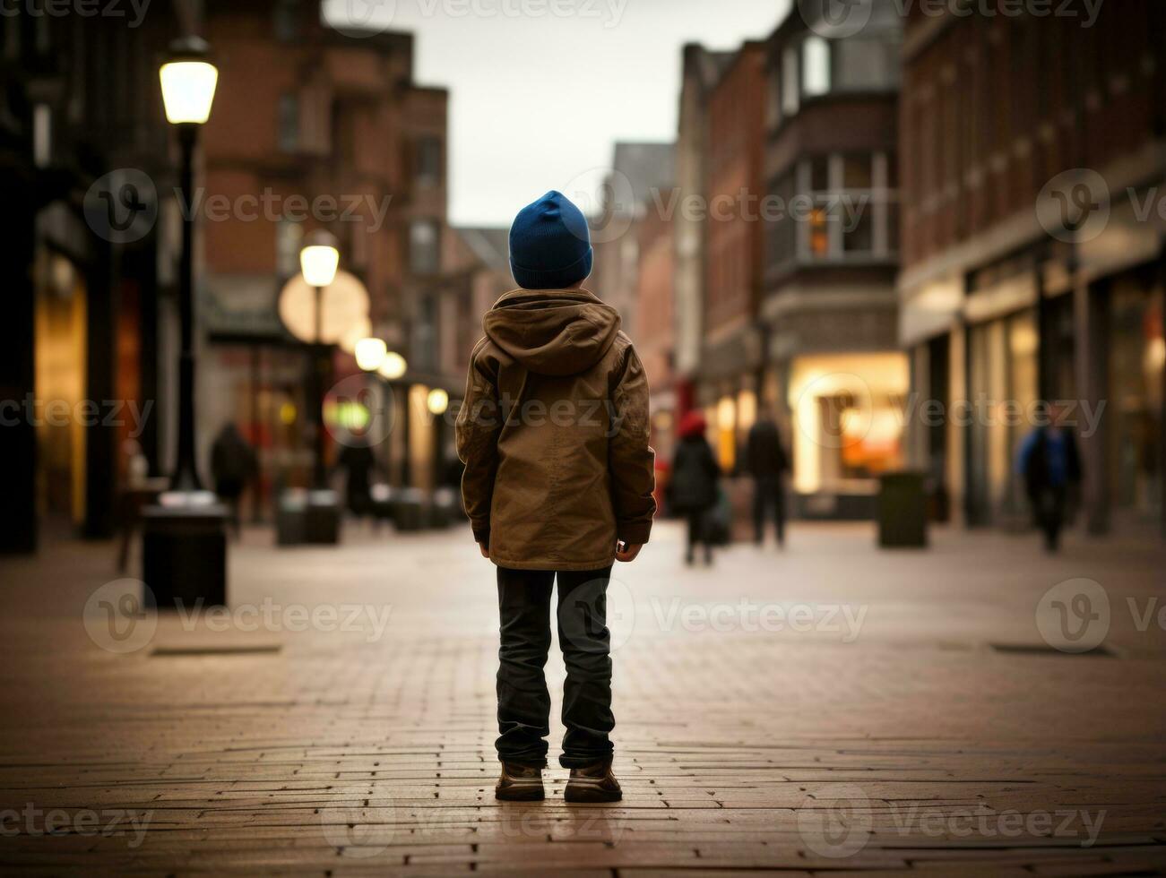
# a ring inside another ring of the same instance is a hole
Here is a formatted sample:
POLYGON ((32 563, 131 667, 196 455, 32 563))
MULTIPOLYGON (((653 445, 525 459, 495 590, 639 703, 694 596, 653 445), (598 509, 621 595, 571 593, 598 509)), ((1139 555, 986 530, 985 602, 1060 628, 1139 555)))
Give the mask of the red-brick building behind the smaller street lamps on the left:
POLYGON ((268 486, 308 478, 305 352, 276 304, 304 234, 324 227, 368 293, 333 374, 358 372, 358 336, 406 357, 401 427, 377 452, 395 484, 428 486, 438 445, 426 399, 452 378, 438 351, 447 92, 414 82, 410 34, 333 29, 316 0, 209 0, 205 30, 220 72, 203 140, 199 459, 230 420, 259 447, 268 486))

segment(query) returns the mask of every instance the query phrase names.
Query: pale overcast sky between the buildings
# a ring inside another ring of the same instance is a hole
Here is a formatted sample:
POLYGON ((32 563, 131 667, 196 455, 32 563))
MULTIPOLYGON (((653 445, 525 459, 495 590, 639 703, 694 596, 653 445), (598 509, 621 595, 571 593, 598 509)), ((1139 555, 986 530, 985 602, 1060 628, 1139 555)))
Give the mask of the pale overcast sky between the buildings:
POLYGON ((686 42, 736 48, 767 36, 788 7, 789 0, 335 0, 329 19, 371 19, 415 34, 416 80, 450 92, 450 222, 510 225, 548 189, 577 191, 581 177, 591 189, 617 140, 675 139, 686 42))

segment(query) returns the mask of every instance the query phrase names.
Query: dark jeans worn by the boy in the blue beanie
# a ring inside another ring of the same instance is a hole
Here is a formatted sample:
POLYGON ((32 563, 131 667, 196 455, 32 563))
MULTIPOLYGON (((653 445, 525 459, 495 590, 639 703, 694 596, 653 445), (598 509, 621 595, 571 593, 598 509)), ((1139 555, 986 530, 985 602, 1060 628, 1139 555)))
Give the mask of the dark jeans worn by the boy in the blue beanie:
POLYGON ((547 764, 550 693, 542 668, 550 651, 550 592, 559 577, 559 646, 567 665, 563 686, 563 752, 559 764, 578 768, 610 759, 611 637, 607 580, 603 570, 498 568, 498 758, 518 765, 547 764))

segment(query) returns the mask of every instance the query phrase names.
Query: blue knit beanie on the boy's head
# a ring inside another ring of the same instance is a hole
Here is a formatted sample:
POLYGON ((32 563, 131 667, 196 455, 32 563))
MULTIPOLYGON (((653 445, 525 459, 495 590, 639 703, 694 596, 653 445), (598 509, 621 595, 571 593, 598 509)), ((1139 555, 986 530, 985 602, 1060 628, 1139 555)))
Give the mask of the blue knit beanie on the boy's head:
POLYGON ((511 272, 525 289, 563 289, 591 274, 586 217, 562 192, 547 192, 514 217, 511 272))

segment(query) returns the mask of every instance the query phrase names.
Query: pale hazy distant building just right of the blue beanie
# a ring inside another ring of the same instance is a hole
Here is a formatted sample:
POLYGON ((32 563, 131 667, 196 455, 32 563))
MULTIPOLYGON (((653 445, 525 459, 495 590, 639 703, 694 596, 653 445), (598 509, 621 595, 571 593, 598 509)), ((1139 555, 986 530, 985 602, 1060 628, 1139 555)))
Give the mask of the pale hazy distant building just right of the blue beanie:
POLYGON ((616 143, 600 215, 591 218, 595 259, 585 286, 619 311, 633 339, 639 328, 639 223, 672 196, 673 156, 672 143, 616 143))

